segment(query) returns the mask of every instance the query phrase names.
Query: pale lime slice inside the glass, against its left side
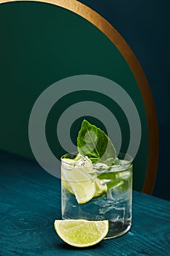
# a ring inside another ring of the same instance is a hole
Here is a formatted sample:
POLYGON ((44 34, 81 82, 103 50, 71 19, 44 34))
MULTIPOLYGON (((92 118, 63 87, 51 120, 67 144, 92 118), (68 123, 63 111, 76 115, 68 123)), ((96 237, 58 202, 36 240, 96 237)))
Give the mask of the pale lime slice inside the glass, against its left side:
POLYGON ((62 170, 62 182, 75 195, 79 204, 87 203, 95 194, 93 176, 81 169, 62 170))

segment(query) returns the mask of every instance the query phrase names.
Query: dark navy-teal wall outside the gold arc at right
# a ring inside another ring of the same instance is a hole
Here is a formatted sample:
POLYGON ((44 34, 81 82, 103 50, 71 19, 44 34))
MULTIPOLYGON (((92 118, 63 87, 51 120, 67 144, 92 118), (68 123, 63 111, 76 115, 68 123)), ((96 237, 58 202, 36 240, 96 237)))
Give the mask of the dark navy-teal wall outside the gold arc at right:
POLYGON ((138 58, 155 101, 160 155, 153 195, 170 200, 170 1, 82 0, 119 31, 138 58))

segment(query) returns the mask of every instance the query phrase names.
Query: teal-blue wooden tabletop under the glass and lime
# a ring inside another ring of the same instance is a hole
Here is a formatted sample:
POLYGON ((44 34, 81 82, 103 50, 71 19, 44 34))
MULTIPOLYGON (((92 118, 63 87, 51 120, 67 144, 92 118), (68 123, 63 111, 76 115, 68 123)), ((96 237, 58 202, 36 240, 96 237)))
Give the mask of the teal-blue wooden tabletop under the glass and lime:
POLYGON ((88 249, 64 244, 60 180, 35 162, 0 154, 0 255, 170 255, 170 202, 134 192, 133 225, 119 238, 88 249))

